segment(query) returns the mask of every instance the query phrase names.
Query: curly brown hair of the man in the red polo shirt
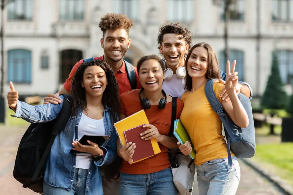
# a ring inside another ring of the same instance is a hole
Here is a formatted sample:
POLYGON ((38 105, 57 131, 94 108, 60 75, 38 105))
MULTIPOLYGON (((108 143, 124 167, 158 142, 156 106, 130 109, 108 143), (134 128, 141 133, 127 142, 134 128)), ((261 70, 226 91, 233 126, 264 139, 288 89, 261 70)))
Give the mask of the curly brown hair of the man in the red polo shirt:
POLYGON ((107 13, 101 18, 99 27, 103 32, 103 38, 105 36, 106 30, 124 28, 129 34, 129 29, 133 26, 133 21, 127 18, 126 15, 122 13, 107 13))

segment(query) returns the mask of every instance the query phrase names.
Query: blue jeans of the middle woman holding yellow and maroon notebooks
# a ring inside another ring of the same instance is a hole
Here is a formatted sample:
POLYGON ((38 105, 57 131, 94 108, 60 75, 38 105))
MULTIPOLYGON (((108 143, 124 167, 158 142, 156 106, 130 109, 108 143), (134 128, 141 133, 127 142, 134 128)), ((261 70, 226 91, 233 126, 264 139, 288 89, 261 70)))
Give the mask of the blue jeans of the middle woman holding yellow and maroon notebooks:
POLYGON ((149 174, 120 174, 119 195, 176 195, 171 168, 149 174))

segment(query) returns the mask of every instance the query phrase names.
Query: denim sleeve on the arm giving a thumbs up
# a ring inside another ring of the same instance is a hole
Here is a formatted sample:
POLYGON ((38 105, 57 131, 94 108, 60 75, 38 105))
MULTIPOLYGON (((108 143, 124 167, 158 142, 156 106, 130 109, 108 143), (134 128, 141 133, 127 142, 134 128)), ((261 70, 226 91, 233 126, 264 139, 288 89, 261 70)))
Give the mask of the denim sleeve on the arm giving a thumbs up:
POLYGON ((16 113, 11 115, 12 117, 22 118, 30 123, 43 123, 52 121, 58 117, 58 114, 63 106, 64 97, 62 98, 61 104, 42 104, 37 106, 29 105, 25 102, 17 101, 16 113))

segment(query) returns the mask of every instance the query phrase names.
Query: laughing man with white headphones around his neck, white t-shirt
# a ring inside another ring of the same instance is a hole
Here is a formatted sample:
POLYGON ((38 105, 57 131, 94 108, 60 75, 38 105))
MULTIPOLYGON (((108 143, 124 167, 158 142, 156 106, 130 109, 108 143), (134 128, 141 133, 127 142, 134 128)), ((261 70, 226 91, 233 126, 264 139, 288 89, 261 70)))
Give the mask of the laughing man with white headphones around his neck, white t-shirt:
MULTIPOLYGON (((158 45, 166 66, 163 90, 173 97, 181 98, 185 92, 185 55, 192 47, 191 32, 179 23, 163 24, 159 28, 158 45)), ((221 77, 220 82, 224 84, 226 73, 221 71, 221 77)), ((252 98, 252 89, 248 83, 239 82, 237 91, 252 98)), ((225 88, 222 94, 223 98, 228 101, 229 97, 225 88)))

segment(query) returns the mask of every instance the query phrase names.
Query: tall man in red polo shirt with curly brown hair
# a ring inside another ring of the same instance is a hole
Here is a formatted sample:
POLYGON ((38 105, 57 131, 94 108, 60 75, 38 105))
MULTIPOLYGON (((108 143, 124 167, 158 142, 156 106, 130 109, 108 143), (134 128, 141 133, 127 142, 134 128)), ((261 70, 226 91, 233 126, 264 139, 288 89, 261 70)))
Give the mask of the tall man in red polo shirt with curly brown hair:
MULTIPOLYGON (((108 13, 103 16, 100 20, 99 27, 103 32, 103 37, 100 39, 101 47, 104 50, 104 55, 100 57, 92 58, 93 60, 104 60, 115 73, 115 77, 119 85, 119 95, 126 92, 127 90, 132 89, 130 79, 127 75, 127 66, 123 60, 127 49, 130 46, 129 39, 129 30, 133 25, 133 21, 130 18, 127 18, 124 14, 108 13)), ((83 59, 78 61, 75 66, 72 68, 69 77, 63 85, 63 88, 59 90, 55 95, 48 94, 44 99, 44 104, 61 103, 62 99, 59 98, 59 94, 70 93, 71 81, 72 78, 78 69, 78 67, 84 62, 83 59)), ((130 64, 128 64, 129 66, 130 64)), ((130 65, 132 66, 132 65, 130 65)), ((139 77, 136 67, 132 66, 135 71, 136 78, 136 88, 141 88, 139 82, 139 77)), ((133 71, 132 70, 132 71, 133 71)), ((135 86, 135 85, 134 85, 135 86)), ((115 131, 115 130, 114 130, 115 131)), ((103 192, 104 194, 118 194, 119 182, 114 178, 118 167, 121 164, 120 158, 115 158, 114 162, 111 165, 105 165, 102 167, 102 180, 103 180, 103 192)))

